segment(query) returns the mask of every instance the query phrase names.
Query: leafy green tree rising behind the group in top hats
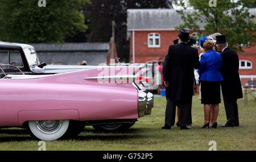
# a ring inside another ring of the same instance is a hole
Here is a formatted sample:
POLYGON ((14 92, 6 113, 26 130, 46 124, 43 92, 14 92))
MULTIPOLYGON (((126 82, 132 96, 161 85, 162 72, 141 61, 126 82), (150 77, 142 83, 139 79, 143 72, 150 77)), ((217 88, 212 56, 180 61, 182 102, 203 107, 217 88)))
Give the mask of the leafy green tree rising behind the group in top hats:
POLYGON ((255 15, 250 15, 249 9, 254 0, 227 1, 218 0, 217 7, 209 7, 209 1, 189 0, 189 6, 185 1, 176 1, 176 5, 183 7, 179 10, 184 24, 177 28, 189 28, 200 32, 199 23, 204 23, 204 34, 220 32, 226 35, 229 46, 234 50, 242 51, 242 44, 251 45, 255 42, 256 25, 255 15), (189 12, 188 7, 195 11, 189 12), (188 11, 188 12, 187 12, 188 11))

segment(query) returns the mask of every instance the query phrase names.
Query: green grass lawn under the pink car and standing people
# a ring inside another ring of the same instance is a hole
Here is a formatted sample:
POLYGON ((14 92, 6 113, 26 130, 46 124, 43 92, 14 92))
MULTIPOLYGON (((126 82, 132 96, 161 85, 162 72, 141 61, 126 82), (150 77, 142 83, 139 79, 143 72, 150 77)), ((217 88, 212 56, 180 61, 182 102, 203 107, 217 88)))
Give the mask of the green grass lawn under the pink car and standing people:
MULTIPOLYGON (((96 133, 91 126, 73 140, 46 142, 46 150, 208 150, 215 140, 217 150, 256 150, 256 101, 245 107, 238 100, 240 127, 204 129, 203 105, 193 97, 193 125, 189 130, 172 127, 162 130, 166 100, 155 98, 150 116, 140 118, 125 133, 96 133)), ((224 105, 220 105, 218 126, 225 123, 224 105)), ((0 129, 0 150, 38 150, 38 141, 30 138, 24 129, 0 129)))

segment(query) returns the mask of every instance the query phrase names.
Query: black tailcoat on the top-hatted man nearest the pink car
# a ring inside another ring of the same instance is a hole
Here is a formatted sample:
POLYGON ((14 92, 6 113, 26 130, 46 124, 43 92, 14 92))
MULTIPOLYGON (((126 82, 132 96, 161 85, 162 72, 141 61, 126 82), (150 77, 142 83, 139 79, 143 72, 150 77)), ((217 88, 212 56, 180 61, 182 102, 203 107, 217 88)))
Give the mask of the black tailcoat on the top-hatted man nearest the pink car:
POLYGON ((191 102, 194 69, 200 68, 197 49, 181 43, 169 46, 164 63, 164 81, 169 82, 168 98, 172 101, 191 102))

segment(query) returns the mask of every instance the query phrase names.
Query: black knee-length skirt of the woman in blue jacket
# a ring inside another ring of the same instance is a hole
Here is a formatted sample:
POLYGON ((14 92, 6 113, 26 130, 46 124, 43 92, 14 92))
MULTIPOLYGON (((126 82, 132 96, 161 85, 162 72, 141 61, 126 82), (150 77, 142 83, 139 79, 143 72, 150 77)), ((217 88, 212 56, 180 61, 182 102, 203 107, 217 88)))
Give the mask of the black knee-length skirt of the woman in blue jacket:
POLYGON ((201 81, 201 104, 219 104, 220 82, 201 81))

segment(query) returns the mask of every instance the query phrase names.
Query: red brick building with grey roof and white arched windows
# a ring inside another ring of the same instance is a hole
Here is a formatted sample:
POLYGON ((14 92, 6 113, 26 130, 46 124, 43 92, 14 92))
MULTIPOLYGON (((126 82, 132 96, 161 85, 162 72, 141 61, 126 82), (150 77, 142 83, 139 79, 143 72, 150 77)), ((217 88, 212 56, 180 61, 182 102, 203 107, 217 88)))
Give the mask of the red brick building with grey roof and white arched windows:
MULTIPOLYGON (((256 8, 250 9, 250 12, 256 15, 256 8)), ((127 13, 130 60, 146 63, 164 58, 169 45, 173 45, 172 41, 177 39, 179 31, 175 27, 183 22, 180 15, 174 9, 131 9, 127 13)), ((204 26, 199 25, 201 28, 204 26)), ((243 50, 238 55, 240 77, 244 85, 248 80, 256 80, 256 46, 243 50)))

